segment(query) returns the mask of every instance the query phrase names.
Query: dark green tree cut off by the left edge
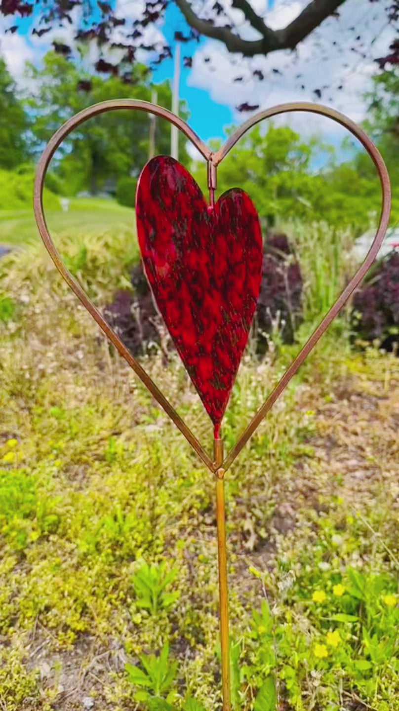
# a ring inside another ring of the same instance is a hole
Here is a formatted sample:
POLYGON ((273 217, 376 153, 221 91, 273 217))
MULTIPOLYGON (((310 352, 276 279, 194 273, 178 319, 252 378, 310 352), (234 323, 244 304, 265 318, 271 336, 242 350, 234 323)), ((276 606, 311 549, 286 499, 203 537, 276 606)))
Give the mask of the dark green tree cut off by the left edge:
POLYGON ((28 159, 28 119, 16 96, 16 85, 0 58, 0 168, 13 169, 28 159))

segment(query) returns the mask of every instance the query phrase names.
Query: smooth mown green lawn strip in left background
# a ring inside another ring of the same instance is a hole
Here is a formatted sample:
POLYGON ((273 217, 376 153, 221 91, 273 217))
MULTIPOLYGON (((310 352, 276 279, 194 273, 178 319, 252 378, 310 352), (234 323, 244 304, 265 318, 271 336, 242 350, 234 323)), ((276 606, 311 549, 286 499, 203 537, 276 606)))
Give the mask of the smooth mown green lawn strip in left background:
MULTIPOLYGON (((46 208, 46 203, 45 203, 46 208)), ((95 235, 104 230, 121 230, 134 225, 134 210, 100 198, 73 198, 68 213, 46 211, 48 228, 54 235, 76 232, 95 235)), ((0 210, 0 245, 24 245, 40 239, 33 210, 0 210)))

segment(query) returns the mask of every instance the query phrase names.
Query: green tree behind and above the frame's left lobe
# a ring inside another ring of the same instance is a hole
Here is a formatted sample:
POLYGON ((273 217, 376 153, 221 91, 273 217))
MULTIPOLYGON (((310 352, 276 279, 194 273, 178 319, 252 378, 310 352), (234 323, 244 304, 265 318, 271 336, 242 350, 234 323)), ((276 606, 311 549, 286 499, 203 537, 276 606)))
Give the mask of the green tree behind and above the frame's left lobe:
MULTIPOLYGON (((147 68, 134 65, 127 77, 89 75, 65 57, 49 52, 41 68, 28 65, 34 87, 27 97, 33 114, 36 149, 40 151, 56 129, 73 114, 109 99, 151 100, 147 68)), ((171 90, 156 87, 159 104, 171 105, 171 90)), ((156 122, 156 153, 169 153, 170 124, 156 122)), ((65 141, 56 170, 71 192, 88 188, 96 194, 107 178, 137 176, 149 155, 149 114, 118 110, 101 114, 76 129, 65 141)))

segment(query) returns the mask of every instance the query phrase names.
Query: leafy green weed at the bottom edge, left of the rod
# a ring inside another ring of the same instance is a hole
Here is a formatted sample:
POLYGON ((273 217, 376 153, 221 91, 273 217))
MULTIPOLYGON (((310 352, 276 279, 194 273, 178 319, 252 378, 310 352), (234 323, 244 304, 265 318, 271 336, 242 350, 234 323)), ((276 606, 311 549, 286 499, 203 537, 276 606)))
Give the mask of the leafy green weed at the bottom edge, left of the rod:
POLYGON ((140 663, 144 669, 129 663, 126 665, 129 682, 139 687, 134 697, 137 701, 147 703, 151 711, 164 711, 165 700, 169 705, 174 699, 175 694, 171 686, 178 666, 176 661, 169 661, 169 645, 164 645, 159 656, 142 654, 140 663))

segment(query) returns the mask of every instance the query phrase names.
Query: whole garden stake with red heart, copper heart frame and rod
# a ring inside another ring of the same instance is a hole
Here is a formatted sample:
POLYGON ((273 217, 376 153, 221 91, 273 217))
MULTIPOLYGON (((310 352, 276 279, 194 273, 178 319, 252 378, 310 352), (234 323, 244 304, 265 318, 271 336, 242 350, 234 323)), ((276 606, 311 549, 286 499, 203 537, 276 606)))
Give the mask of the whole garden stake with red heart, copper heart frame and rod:
POLYGON ((257 113, 237 129, 222 148, 213 153, 182 119, 168 110, 144 101, 115 100, 102 102, 76 114, 50 139, 38 165, 34 211, 38 230, 60 274, 216 477, 223 711, 230 711, 225 472, 358 287, 375 259, 388 227, 390 214, 390 182, 387 169, 378 149, 362 129, 343 114, 326 107, 298 102, 257 113), (118 109, 143 111, 171 122, 196 146, 208 165, 209 205, 196 182, 177 161, 169 156, 156 156, 151 159, 144 166, 137 184, 136 215, 139 246, 154 299, 213 422, 213 457, 209 456, 198 442, 191 429, 70 274, 46 225, 43 186, 50 160, 58 146, 73 129, 87 119, 118 109), (262 271, 262 234, 255 206, 240 188, 224 193, 215 202, 217 169, 237 141, 252 126, 277 114, 298 111, 333 119, 346 127, 363 144, 376 165, 381 181, 380 223, 363 264, 312 333, 302 351, 289 365, 275 389, 253 415, 233 449, 225 456, 221 422, 255 313, 262 271))

